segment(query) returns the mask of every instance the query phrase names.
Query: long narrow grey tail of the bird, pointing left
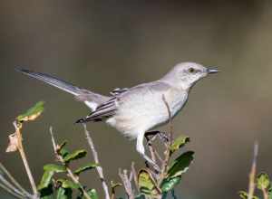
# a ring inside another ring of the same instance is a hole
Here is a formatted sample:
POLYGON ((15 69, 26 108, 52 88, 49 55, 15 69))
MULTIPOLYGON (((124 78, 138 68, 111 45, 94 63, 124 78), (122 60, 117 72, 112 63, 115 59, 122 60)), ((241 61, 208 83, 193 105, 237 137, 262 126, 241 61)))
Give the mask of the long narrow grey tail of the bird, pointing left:
POLYGON ((64 90, 66 92, 69 92, 75 96, 77 100, 83 101, 89 108, 96 109, 96 107, 100 104, 102 104, 104 101, 109 100, 110 98, 107 96, 103 96, 98 93, 94 93, 90 90, 84 90, 81 88, 78 88, 76 86, 73 86, 73 84, 60 80, 56 77, 53 77, 52 75, 41 73, 41 72, 34 72, 29 71, 25 69, 16 69, 16 71, 20 71, 25 75, 28 75, 34 79, 37 79, 39 81, 44 81, 45 83, 48 83, 60 90, 64 90))

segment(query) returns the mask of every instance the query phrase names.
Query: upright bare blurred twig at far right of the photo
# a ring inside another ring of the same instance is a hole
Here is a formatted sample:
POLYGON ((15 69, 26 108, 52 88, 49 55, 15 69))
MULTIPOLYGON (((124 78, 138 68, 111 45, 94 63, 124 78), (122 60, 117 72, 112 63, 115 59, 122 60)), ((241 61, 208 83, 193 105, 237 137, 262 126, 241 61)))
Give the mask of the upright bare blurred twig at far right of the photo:
POLYGON ((253 151, 253 160, 252 166, 249 173, 249 185, 248 185, 248 199, 252 199, 255 190, 255 175, 256 175, 256 166, 257 166, 257 153, 258 153, 258 144, 255 142, 254 151, 253 151))

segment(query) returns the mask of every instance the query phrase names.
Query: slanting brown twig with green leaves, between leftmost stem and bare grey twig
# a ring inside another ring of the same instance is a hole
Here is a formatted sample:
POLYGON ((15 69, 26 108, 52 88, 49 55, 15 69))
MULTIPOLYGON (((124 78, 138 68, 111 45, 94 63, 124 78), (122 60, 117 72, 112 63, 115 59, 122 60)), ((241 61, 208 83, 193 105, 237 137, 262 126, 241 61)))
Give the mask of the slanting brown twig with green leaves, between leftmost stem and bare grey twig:
POLYGON ((69 177, 71 177, 71 179, 73 180, 73 183, 80 186, 80 190, 83 192, 84 197, 87 199, 91 199, 89 194, 87 194, 87 192, 84 190, 83 185, 81 185, 81 183, 79 182, 78 177, 73 175, 73 171, 69 168, 69 166, 67 166, 65 164, 65 161, 63 160, 63 156, 59 155, 59 153, 57 151, 57 145, 56 145, 55 139, 53 137, 52 127, 50 127, 50 134, 51 134, 51 139, 52 139, 52 144, 53 144, 53 152, 54 152, 55 156, 63 164, 63 166, 65 166, 66 172, 68 173, 69 177))

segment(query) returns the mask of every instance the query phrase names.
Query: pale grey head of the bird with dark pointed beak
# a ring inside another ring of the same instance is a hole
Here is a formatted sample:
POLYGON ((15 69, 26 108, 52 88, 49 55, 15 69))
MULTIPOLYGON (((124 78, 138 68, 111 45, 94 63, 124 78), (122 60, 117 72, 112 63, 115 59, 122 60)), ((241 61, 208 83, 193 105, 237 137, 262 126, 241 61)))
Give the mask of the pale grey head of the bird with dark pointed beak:
POLYGON ((206 68, 195 62, 181 62, 168 72, 162 80, 173 86, 189 90, 197 81, 211 73, 219 72, 214 68, 206 68))

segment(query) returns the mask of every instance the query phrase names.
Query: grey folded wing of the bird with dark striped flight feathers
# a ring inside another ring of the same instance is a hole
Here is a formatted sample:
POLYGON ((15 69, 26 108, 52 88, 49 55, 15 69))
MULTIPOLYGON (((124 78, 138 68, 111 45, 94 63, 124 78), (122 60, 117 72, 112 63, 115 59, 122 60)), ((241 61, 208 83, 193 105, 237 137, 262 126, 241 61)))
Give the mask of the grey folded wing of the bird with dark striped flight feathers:
MULTIPOLYGON (((133 96, 139 97, 139 95, 149 95, 152 92, 169 90, 170 86, 160 81, 153 81, 150 83, 140 84, 131 89, 122 89, 121 92, 116 93, 111 100, 102 103, 93 111, 89 116, 80 118, 76 123, 84 123, 88 121, 102 121, 104 118, 111 118, 116 113, 120 104, 126 103, 133 96)), ((121 89, 119 89, 121 90, 121 89)))

